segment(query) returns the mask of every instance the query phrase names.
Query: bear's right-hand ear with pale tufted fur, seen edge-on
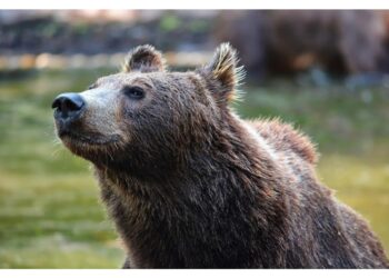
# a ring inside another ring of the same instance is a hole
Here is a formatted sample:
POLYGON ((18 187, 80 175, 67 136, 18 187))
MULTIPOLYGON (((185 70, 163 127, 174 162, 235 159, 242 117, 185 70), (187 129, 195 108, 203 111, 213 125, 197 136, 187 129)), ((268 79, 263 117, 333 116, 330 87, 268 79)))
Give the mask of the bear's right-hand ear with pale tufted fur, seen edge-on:
POLYGON ((230 43, 221 43, 215 51, 211 62, 206 66, 206 73, 221 85, 215 92, 222 100, 231 101, 237 97, 237 87, 245 77, 243 67, 238 67, 237 51, 230 43))

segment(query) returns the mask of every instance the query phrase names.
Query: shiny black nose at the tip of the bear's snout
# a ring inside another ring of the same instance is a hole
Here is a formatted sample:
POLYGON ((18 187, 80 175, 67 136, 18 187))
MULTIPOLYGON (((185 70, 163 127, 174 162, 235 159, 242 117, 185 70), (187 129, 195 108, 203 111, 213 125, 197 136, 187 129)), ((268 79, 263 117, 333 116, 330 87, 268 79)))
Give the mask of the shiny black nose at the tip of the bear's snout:
POLYGON ((74 119, 80 115, 84 106, 86 102, 80 95, 67 92, 59 95, 52 102, 51 108, 57 108, 56 117, 74 119))

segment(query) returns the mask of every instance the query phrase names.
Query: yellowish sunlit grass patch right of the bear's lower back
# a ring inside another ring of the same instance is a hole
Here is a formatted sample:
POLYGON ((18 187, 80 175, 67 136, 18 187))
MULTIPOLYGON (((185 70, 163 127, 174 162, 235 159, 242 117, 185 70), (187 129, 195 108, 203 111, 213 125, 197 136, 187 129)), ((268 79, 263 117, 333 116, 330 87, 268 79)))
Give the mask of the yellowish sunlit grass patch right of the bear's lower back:
POLYGON ((319 163, 319 176, 336 196, 367 218, 389 249, 389 160, 329 153, 319 163))

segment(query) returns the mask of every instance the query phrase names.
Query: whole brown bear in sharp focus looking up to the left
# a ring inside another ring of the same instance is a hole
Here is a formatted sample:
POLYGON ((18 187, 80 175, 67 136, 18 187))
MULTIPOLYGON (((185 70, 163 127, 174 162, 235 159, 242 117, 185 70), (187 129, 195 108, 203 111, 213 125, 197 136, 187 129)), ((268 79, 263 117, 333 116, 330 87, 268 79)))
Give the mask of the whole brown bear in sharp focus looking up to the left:
POLYGON ((316 178, 307 137, 231 110, 241 78, 228 43, 188 72, 142 46, 122 72, 53 101, 58 136, 94 166, 123 267, 388 267, 367 222, 316 178))

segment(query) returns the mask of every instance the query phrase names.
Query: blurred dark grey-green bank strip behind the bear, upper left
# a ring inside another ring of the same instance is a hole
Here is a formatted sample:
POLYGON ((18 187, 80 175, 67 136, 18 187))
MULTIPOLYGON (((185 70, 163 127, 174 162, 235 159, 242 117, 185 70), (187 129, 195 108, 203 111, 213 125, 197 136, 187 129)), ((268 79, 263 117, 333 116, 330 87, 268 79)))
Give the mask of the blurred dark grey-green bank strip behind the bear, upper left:
MULTIPOLYGON (((150 43, 161 50, 205 49, 212 18, 187 17, 163 11, 157 18, 120 21, 60 21, 41 16, 0 23, 3 53, 113 53, 150 43)), ((1 58, 1 57, 0 57, 1 58)))

